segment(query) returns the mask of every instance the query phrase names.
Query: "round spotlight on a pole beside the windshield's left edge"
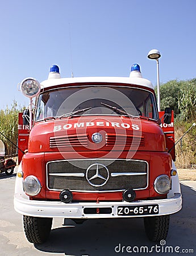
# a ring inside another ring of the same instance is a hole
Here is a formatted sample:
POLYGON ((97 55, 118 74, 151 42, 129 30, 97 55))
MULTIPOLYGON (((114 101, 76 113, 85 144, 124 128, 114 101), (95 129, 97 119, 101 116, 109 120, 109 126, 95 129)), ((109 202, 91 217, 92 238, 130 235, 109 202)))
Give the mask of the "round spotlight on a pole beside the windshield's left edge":
POLYGON ((40 93, 41 86, 36 79, 29 77, 21 82, 20 88, 24 96, 33 98, 40 93))

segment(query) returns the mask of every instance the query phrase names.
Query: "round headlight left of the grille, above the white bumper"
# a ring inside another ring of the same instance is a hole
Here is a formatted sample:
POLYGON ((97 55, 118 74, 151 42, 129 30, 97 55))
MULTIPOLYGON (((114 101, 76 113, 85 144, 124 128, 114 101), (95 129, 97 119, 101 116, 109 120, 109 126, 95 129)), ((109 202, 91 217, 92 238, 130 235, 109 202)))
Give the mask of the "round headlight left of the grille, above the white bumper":
POLYGON ((27 195, 36 196, 41 190, 41 184, 35 176, 28 176, 23 181, 23 188, 27 195))

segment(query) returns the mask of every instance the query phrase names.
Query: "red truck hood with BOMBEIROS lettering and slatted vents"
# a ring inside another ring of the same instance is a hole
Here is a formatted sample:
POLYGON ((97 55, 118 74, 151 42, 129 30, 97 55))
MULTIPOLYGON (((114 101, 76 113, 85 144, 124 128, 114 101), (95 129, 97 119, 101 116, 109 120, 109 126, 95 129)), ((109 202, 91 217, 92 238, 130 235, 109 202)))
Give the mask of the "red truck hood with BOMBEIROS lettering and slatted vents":
POLYGON ((80 116, 36 122, 28 152, 165 151, 160 126, 149 119, 80 116))

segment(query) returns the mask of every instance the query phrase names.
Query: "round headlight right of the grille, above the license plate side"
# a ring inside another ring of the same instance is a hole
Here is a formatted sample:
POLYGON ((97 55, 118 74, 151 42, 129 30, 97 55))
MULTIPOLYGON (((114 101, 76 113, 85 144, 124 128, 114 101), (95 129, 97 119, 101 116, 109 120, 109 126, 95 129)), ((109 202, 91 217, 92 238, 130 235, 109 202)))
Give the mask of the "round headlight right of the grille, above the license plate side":
POLYGON ((160 175, 156 178, 154 187, 155 191, 161 195, 168 193, 171 187, 171 180, 167 175, 160 175))

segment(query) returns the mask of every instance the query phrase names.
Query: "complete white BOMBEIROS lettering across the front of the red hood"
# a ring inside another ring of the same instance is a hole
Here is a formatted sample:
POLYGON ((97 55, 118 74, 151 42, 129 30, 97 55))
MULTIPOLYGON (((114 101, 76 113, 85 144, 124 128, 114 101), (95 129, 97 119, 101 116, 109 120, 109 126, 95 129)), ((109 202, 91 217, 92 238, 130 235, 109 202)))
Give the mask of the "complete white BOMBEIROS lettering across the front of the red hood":
POLYGON ((91 127, 91 126, 106 126, 106 127, 117 127, 117 128, 124 128, 124 129, 132 129, 132 130, 140 130, 139 125, 134 123, 118 123, 118 122, 81 122, 81 123, 66 123, 65 125, 56 125, 54 126, 53 131, 61 131, 61 130, 69 130, 72 128, 80 128, 80 127, 91 127))

